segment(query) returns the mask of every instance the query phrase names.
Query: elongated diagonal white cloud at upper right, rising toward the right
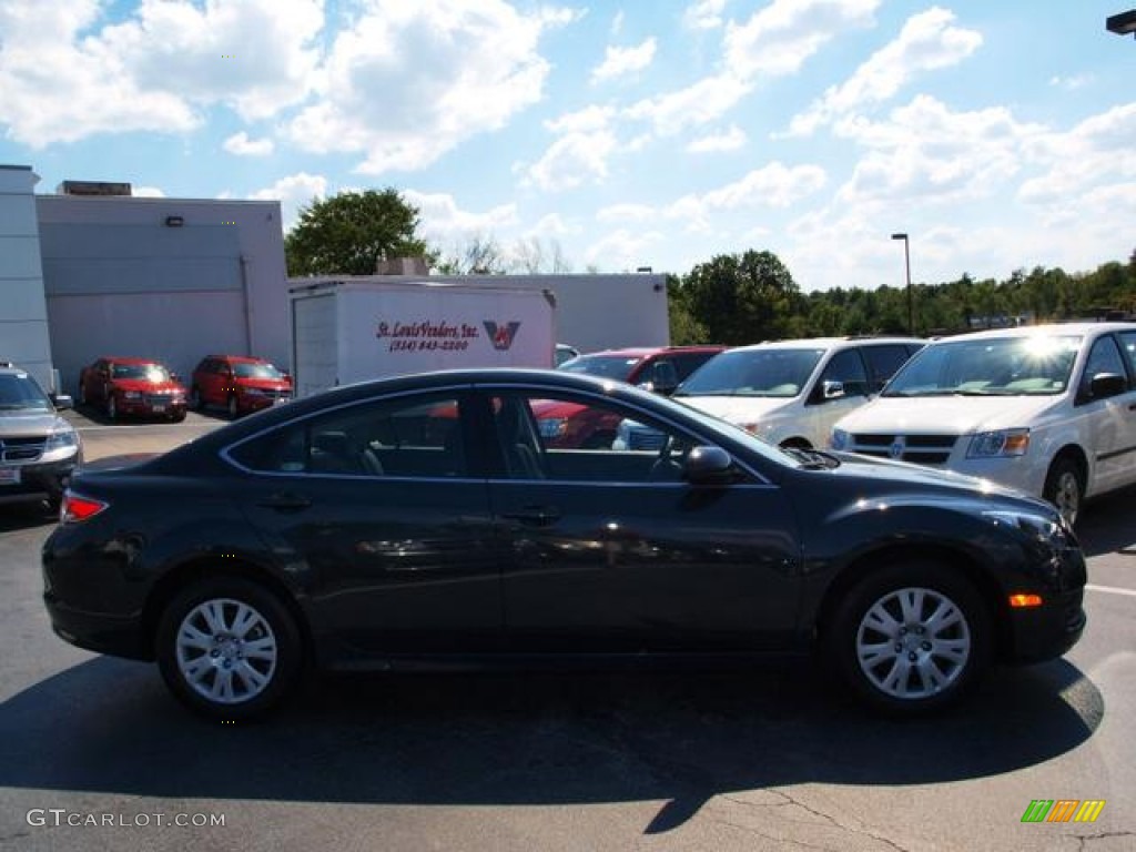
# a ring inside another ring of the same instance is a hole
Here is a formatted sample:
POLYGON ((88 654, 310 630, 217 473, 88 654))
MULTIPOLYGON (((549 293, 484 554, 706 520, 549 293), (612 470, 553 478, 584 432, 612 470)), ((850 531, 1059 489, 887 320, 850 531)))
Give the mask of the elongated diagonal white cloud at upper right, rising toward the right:
POLYGON ((857 109, 895 95, 917 74, 957 65, 983 43, 980 33, 953 26, 954 14, 937 7, 912 16, 895 41, 877 51, 840 86, 833 86, 805 112, 791 134, 809 134, 857 109))

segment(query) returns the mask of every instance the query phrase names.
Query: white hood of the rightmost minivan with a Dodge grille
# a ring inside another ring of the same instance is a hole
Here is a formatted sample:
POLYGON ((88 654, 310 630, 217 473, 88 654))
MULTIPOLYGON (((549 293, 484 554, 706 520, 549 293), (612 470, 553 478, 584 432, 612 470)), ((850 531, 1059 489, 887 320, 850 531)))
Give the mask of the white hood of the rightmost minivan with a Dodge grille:
POLYGON ((1009 429, 1037 423, 1062 396, 878 396, 842 418, 853 433, 949 434, 1009 429))

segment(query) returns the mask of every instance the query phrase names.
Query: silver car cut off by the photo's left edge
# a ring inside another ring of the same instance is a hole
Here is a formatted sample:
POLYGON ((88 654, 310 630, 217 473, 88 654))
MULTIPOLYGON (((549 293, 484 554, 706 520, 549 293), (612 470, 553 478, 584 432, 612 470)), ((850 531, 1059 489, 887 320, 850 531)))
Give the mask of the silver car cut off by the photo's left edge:
POLYGON ((10 361, 0 361, 0 503, 45 500, 58 508, 83 461, 78 432, 59 411, 70 396, 50 396, 10 361))

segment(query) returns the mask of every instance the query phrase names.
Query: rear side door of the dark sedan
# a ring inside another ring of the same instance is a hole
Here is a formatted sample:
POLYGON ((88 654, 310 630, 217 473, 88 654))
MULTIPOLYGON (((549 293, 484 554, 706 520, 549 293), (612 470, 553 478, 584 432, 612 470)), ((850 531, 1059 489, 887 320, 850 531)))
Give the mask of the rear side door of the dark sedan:
POLYGON ((308 580, 312 629, 364 653, 498 648, 499 559, 462 392, 307 417, 229 452, 240 503, 308 580))

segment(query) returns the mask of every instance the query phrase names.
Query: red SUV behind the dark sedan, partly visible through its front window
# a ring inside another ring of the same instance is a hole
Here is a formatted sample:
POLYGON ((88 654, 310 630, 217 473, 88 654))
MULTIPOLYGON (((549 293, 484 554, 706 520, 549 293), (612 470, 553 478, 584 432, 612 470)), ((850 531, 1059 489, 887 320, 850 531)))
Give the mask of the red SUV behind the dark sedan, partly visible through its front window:
MULTIPOLYGON (((574 358, 560 369, 615 378, 669 394, 724 349, 718 345, 609 349, 574 358)), ((553 446, 610 449, 619 429, 619 420, 600 417, 600 412, 571 403, 549 402, 537 406, 535 412, 541 435, 553 446)))

